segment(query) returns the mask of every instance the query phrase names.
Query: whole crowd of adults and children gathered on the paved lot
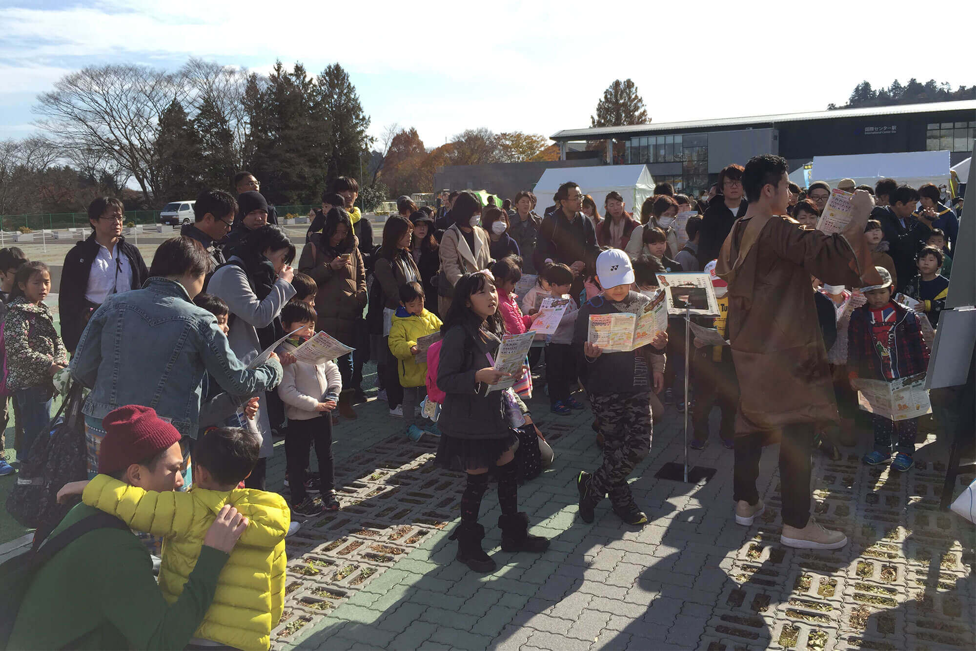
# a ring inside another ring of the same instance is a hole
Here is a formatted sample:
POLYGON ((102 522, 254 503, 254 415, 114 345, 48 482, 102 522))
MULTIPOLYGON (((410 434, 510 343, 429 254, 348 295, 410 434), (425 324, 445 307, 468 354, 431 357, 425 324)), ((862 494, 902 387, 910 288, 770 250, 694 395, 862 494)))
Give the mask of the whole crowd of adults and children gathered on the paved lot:
MULTIPOLYGON (((121 202, 94 200, 90 237, 64 259, 60 331, 45 304, 46 265, 0 250, 3 381, 21 456, 49 427, 53 377, 87 389, 88 481, 61 490, 60 499, 82 503, 47 536, 77 532, 100 512, 125 525, 88 525, 98 533, 68 542, 39 570, 13 630, 17 648, 266 649, 281 615, 284 538, 341 508, 333 431, 367 401, 370 359, 377 399, 402 418, 403 435, 436 437, 435 462, 467 473, 451 540, 474 571, 496 568, 479 522, 492 475, 502 548, 549 546, 528 533, 518 507, 519 483, 552 460, 526 404, 534 393, 548 396, 553 416, 589 403, 602 461, 575 476, 584 522, 604 498, 629 525, 647 522, 628 478, 650 450, 654 418, 668 405, 690 410, 691 447, 701 450, 718 408, 719 440, 733 451, 736 522, 763 512, 759 455, 779 442, 782 542, 843 546, 842 533, 810 514, 811 451, 836 457, 837 443, 860 443, 859 379, 924 372, 958 233, 937 188, 892 179, 842 182, 854 193, 850 224, 822 233, 833 189, 801 190, 783 158, 763 155, 725 167, 701 200, 659 184, 639 213, 612 192, 601 214, 572 182, 542 217, 529 191, 496 206, 445 190, 436 210, 401 196, 374 244, 356 181, 339 177, 310 214, 296 269, 296 243, 260 187, 242 172, 236 196, 202 192, 194 223, 163 241, 148 268, 122 235, 121 202), (695 321, 728 345, 686 342, 681 318, 629 352, 590 341, 591 317, 639 314, 660 274, 682 272, 711 277, 719 314, 695 321), (519 296, 525 275, 535 282, 519 296), (566 303, 558 326, 536 334, 521 369, 496 369, 503 338, 533 331, 546 297, 566 303), (316 331, 352 352, 297 359, 316 331), (275 436, 285 439, 281 495, 265 475, 275 436), (161 556, 158 587, 147 551, 161 556), (85 589, 56 589, 60 581, 85 589), (52 604, 66 614, 57 626, 52 604)), ((864 462, 908 470, 917 424, 874 415, 864 462)), ((0 459, 0 474, 15 471, 0 459)))

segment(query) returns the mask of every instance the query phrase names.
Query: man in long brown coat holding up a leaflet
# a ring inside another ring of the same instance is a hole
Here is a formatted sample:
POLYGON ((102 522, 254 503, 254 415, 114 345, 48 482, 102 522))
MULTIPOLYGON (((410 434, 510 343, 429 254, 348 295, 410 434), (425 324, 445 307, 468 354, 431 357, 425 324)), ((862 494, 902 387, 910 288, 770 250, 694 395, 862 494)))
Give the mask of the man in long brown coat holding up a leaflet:
POLYGON ((827 351, 817 321, 811 276, 860 286, 871 270, 864 239, 871 196, 854 198, 843 233, 804 230, 787 215, 787 161, 755 156, 743 186, 749 209, 725 239, 715 271, 728 283, 728 332, 741 396, 736 415, 736 522, 752 525, 764 509, 755 489, 762 446, 780 442, 783 534, 787 546, 837 549, 842 532, 810 516, 810 450, 818 424, 838 419, 827 351), (869 272, 866 272, 866 274, 869 272))

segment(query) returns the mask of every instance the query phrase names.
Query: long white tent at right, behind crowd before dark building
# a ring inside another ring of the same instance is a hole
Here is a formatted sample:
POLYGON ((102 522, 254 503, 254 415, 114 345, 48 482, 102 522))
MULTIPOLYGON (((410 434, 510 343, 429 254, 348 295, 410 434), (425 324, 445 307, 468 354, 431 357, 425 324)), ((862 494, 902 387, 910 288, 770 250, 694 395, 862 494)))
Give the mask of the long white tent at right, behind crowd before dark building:
POLYGON ((836 188, 841 179, 855 185, 874 184, 883 178, 918 188, 925 183, 949 187, 949 152, 858 153, 814 156, 811 181, 827 181, 836 188))

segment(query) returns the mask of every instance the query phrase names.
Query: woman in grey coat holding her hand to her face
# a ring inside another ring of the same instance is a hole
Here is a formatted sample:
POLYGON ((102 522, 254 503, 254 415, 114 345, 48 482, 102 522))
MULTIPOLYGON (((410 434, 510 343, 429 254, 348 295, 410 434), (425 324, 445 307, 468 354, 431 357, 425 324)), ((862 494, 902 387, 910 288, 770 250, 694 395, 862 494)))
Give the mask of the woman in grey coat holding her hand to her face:
MULTIPOLYGON (((224 299, 230 309, 227 339, 234 354, 249 364, 261 352, 285 334, 281 325, 281 308, 292 296, 295 244, 277 226, 263 226, 251 231, 234 249, 227 264, 218 269, 207 284, 207 293, 224 299)), ((282 356, 289 364, 291 356, 282 356)), ((270 401, 279 402, 267 393, 258 406, 258 417, 247 420, 246 427, 261 437, 261 458, 245 481, 245 486, 264 490, 264 470, 271 456, 270 401)), ((284 417, 284 410, 280 415, 284 417)))

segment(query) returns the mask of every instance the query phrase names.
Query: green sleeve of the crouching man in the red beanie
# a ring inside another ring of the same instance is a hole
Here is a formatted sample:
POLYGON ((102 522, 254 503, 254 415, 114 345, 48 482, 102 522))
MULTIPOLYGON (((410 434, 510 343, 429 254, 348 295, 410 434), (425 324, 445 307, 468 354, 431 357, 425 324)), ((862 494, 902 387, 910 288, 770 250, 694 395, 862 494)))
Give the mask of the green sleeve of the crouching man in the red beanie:
POLYGON ((101 575, 94 586, 105 620, 119 629, 130 648, 182 649, 210 608, 228 557, 203 546, 183 593, 171 605, 152 577, 142 542, 119 544, 114 553, 101 555, 101 567, 93 568, 101 575))

